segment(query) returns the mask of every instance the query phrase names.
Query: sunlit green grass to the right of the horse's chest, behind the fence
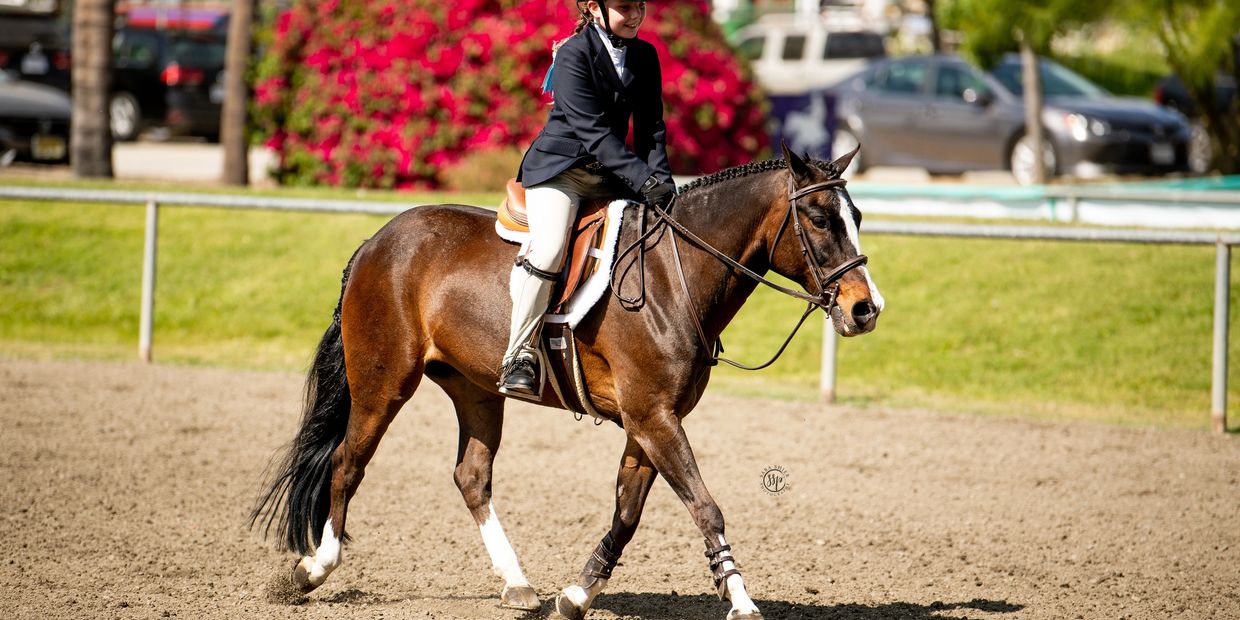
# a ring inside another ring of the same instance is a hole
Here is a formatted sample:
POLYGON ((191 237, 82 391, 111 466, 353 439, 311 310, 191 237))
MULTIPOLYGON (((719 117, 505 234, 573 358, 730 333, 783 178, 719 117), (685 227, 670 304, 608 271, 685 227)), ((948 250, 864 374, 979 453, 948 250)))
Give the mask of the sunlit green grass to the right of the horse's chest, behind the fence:
MULTIPOLYGON (((1213 247, 869 236, 866 250, 887 309, 873 334, 841 340, 841 401, 1207 428, 1213 247)), ((769 355, 800 308, 759 291, 724 345, 745 361, 769 355)), ((812 397, 823 321, 807 327, 765 386, 719 377, 812 397)))

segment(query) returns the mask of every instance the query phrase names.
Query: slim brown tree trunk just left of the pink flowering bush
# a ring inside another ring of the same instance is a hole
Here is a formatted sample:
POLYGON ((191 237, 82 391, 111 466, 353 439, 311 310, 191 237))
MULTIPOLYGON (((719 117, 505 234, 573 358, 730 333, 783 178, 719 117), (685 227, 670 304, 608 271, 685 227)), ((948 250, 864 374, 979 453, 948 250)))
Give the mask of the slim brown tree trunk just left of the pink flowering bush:
POLYGON ((224 149, 224 185, 249 185, 249 71, 254 0, 233 0, 224 58, 224 105, 219 143, 224 149))

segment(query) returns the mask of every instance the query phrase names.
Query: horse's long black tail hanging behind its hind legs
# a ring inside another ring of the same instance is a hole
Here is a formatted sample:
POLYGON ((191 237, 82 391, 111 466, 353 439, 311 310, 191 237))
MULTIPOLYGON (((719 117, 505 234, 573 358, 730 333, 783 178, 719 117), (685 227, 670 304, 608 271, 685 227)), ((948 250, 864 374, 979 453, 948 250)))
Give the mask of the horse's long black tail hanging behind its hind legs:
MULTIPOLYGON (((352 265, 351 258, 341 281, 341 299, 352 265)), ((264 534, 270 533, 274 525, 288 551, 305 556, 322 539, 322 527, 331 508, 331 458, 345 439, 348 409, 345 343, 340 336, 337 303, 306 376, 301 428, 283 459, 273 460, 275 469, 270 487, 259 496, 249 516, 250 527, 262 525, 264 534)))

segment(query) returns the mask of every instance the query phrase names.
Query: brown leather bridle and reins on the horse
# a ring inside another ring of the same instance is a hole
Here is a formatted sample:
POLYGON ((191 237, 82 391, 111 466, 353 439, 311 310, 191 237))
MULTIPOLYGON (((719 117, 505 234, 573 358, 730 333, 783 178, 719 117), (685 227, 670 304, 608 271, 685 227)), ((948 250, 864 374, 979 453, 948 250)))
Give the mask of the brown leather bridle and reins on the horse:
MULTIPOLYGON (((787 348, 787 343, 792 341, 792 337, 796 336, 796 332, 801 329, 801 325, 805 324, 805 320, 811 314, 813 314, 813 310, 822 309, 822 311, 826 312, 828 316, 831 315, 831 310, 835 309, 835 308, 837 308, 836 300, 837 300, 837 298, 839 295, 839 279, 843 278, 843 275, 846 273, 848 273, 849 270, 856 269, 856 268, 858 268, 861 265, 864 265, 869 260, 869 258, 866 257, 866 254, 858 254, 858 255, 856 255, 853 258, 849 258, 848 260, 844 260, 843 263, 841 263, 839 265, 837 265, 835 269, 832 269, 830 273, 827 273, 826 275, 823 275, 822 274, 822 265, 818 263, 818 257, 813 252, 812 244, 810 243, 810 236, 805 231, 805 227, 801 226, 800 218, 796 217, 796 201, 797 200, 804 198, 806 196, 810 196, 812 193, 821 192, 821 191, 827 191, 827 190, 832 190, 832 188, 836 188, 836 187, 843 187, 844 184, 847 184, 847 181, 843 180, 843 179, 831 179, 831 180, 827 180, 827 181, 823 181, 823 182, 812 184, 812 185, 807 185, 805 187, 797 188, 795 186, 795 184, 792 182, 792 180, 789 179, 787 213, 785 215, 782 223, 780 223, 779 231, 775 233, 775 241, 771 243, 770 249, 769 249, 768 259, 769 259, 770 263, 774 263, 775 248, 779 247, 780 238, 782 238, 784 231, 787 229, 787 224, 789 224, 789 222, 791 222, 792 223, 792 229, 796 232, 796 238, 801 243, 801 254, 805 257, 806 265, 810 268, 810 273, 813 275, 813 283, 815 283, 815 286, 817 288, 817 291, 815 294, 805 294, 802 291, 794 290, 794 289, 790 289, 787 286, 782 286, 780 284, 776 284, 776 283, 774 283, 774 281, 764 278, 761 274, 754 272, 753 269, 749 269, 748 267, 740 264, 739 262, 737 262, 737 259, 734 259, 734 258, 724 254, 719 249, 714 248, 713 246, 711 246, 709 243, 707 243, 706 241, 703 241, 701 237, 698 237, 697 234, 694 234, 693 231, 689 231, 688 228, 684 227, 684 224, 682 224, 681 222, 677 222, 676 218, 673 218, 671 216, 670 211, 671 211, 672 205, 675 205, 675 201, 676 201, 675 197, 672 198, 672 202, 668 203, 668 206, 667 206, 666 210, 663 210, 663 208, 661 208, 661 207, 658 207, 657 205, 653 205, 653 203, 649 203, 647 205, 651 208, 651 211, 655 212, 655 216, 656 216, 655 224, 649 231, 646 231, 645 233, 642 233, 635 242, 632 242, 631 244, 629 244, 629 247, 626 247, 624 249, 624 252, 620 253, 619 257, 616 257, 616 265, 619 265, 619 264, 621 264, 624 262, 624 257, 629 255, 635 248, 639 249, 637 260, 639 260, 639 278, 640 278, 639 281, 640 281, 641 291, 635 298, 625 298, 625 296, 622 296, 620 294, 620 291, 619 291, 619 288, 615 284, 615 275, 616 274, 615 274, 615 272, 613 272, 613 274, 611 274, 611 293, 622 304, 627 304, 630 306, 640 305, 645 300, 645 296, 646 296, 646 283, 645 283, 645 279, 646 279, 645 278, 645 272, 646 272, 646 269, 645 269, 645 252, 646 252, 646 249, 645 249, 645 242, 646 242, 647 238, 650 238, 651 234, 653 234, 655 232, 657 232, 660 229, 660 224, 667 224, 668 227, 672 228, 673 232, 680 233, 680 236, 682 236, 686 239, 688 239, 692 244, 697 246, 699 249, 702 249, 706 253, 711 254, 712 257, 714 257, 715 259, 718 259, 720 263, 730 267, 732 269, 735 269, 735 270, 740 272, 742 274, 746 275, 748 278, 750 278, 750 279, 753 279, 755 281, 759 281, 761 284, 765 284, 766 286, 770 286, 770 288, 773 288, 773 289, 775 289, 775 290, 777 290, 777 291, 780 291, 780 293, 782 293, 785 295, 789 295, 791 298, 796 298, 796 299, 800 299, 802 301, 806 301, 807 305, 806 305, 805 312, 801 314, 801 319, 796 322, 796 326, 792 327, 792 332, 787 335, 787 339, 785 339, 784 343, 780 345, 779 351, 775 351, 775 355, 770 360, 768 360, 765 363, 761 363, 759 366, 745 366, 745 365, 735 362, 733 360, 728 360, 725 357, 720 357, 719 353, 723 352, 723 342, 719 339, 715 339, 714 342, 712 343, 711 339, 708 339, 707 335, 706 335, 706 330, 702 327, 702 321, 698 319, 697 306, 693 304, 693 296, 689 294, 688 281, 684 279, 684 269, 683 269, 683 265, 682 265, 682 262, 681 262, 680 246, 678 246, 677 239, 676 239, 677 236, 672 234, 672 254, 676 258, 676 274, 677 274, 677 277, 680 278, 680 281, 681 281, 681 291, 684 294, 684 299, 689 304, 689 317, 693 320, 693 326, 694 326, 694 329, 697 329, 698 337, 702 340, 702 343, 707 347, 708 351, 712 351, 708 355, 707 363, 711 365, 711 366, 715 366, 719 362, 724 362, 724 363, 728 363, 730 366, 734 366, 737 368, 742 368, 742 370, 745 370, 745 371, 758 371, 758 370, 765 368, 765 367, 775 363, 775 360, 779 360, 779 357, 781 355, 784 355, 784 350, 787 348)), ((645 222, 646 211, 641 212, 641 217, 642 217, 642 229, 645 229, 645 227, 646 227, 646 222, 645 222)))

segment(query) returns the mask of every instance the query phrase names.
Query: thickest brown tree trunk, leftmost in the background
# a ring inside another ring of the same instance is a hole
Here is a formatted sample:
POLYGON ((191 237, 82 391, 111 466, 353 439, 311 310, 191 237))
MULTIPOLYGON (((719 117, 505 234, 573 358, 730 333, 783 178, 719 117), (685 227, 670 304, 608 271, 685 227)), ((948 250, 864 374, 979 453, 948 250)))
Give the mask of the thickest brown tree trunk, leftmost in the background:
POLYGON ((78 0, 73 7, 73 176, 112 174, 112 36, 115 0, 78 0))

